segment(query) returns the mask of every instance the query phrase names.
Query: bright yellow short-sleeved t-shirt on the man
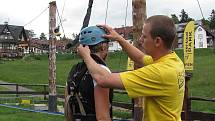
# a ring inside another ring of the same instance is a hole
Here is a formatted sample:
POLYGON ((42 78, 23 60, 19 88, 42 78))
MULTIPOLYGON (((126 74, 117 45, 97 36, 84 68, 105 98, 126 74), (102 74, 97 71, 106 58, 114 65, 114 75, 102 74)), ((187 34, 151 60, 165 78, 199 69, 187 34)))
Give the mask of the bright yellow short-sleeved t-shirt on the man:
POLYGON ((143 121, 181 121, 185 71, 175 52, 120 78, 130 97, 145 97, 143 121))

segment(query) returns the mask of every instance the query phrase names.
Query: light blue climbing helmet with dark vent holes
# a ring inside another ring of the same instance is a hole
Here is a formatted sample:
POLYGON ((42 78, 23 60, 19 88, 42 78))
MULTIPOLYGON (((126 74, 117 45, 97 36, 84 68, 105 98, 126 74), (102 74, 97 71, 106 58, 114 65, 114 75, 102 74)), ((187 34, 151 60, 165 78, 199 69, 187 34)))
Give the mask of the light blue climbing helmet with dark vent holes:
POLYGON ((86 27, 80 32, 79 42, 83 45, 96 45, 100 42, 108 42, 108 39, 102 37, 104 34, 106 34, 105 30, 100 27, 86 27))

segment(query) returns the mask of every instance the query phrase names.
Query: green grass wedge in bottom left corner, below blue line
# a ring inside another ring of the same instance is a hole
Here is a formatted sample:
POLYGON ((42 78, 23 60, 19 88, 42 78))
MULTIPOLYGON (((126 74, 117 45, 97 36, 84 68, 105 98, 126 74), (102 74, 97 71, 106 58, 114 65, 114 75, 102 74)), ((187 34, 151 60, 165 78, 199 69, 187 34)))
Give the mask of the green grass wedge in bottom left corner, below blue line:
POLYGON ((22 111, 0 107, 0 121, 65 121, 64 116, 22 111))

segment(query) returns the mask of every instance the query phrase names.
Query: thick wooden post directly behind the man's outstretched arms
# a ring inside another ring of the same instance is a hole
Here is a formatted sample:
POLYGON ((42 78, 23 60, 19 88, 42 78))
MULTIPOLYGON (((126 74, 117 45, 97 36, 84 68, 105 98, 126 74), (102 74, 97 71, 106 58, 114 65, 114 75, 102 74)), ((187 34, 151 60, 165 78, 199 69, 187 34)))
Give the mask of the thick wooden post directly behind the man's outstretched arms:
MULTIPOLYGON (((142 50, 138 44, 138 40, 142 34, 144 20, 146 19, 146 0, 132 0, 132 16, 133 16, 133 39, 134 45, 142 50)), ((142 50, 143 51, 143 50, 142 50)), ((134 63, 134 68, 137 65, 134 63)), ((144 117, 143 106, 144 98, 134 99, 133 117, 134 121, 142 121, 144 117)))

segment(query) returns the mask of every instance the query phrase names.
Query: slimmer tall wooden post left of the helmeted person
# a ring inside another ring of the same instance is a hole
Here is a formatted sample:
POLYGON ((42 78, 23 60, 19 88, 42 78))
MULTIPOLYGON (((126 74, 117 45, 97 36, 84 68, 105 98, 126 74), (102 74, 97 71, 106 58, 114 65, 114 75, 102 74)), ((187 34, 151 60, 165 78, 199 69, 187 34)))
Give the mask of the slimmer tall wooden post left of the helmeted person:
POLYGON ((56 94, 56 38, 53 30, 56 27, 56 1, 49 3, 49 106, 50 112, 57 111, 56 94))

